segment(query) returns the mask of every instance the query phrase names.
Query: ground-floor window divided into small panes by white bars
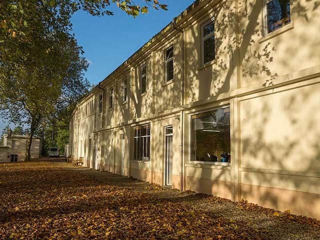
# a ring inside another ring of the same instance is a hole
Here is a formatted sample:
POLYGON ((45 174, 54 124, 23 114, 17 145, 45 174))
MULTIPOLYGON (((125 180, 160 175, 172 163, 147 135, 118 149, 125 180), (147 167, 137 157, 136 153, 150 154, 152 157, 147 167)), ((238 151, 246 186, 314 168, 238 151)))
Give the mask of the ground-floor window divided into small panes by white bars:
POLYGON ((148 161, 150 157, 150 124, 134 127, 133 159, 148 161))

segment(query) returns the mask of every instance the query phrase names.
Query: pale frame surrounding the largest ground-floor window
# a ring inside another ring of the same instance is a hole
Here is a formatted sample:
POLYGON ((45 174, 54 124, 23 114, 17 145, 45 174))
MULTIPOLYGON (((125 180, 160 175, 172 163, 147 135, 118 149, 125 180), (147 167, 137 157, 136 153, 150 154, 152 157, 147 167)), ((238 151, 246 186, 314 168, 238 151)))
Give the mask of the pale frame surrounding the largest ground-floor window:
MULTIPOLYGON (((230 109, 230 134, 231 134, 231 106, 230 104, 223 104, 223 105, 218 105, 218 106, 214 106, 212 108, 206 108, 206 109, 203 109, 201 111, 196 111, 196 112, 192 112, 189 114, 188 116, 188 120, 189 120, 189 126, 188 126, 188 129, 189 129, 189 152, 188 152, 188 155, 189 155, 189 159, 188 159, 188 164, 209 164, 209 165, 219 165, 219 166, 230 166, 232 164, 232 156, 231 156, 231 162, 221 162, 221 161, 197 161, 197 160, 192 160, 192 154, 191 154, 191 149, 192 149, 192 116, 193 115, 196 115, 196 114, 200 114, 200 113, 203 113, 203 112, 208 112, 208 111, 214 111, 214 110, 217 110, 217 109, 223 109, 223 108, 229 108, 230 109)), ((232 149, 232 142, 231 142, 231 135, 230 135, 230 148, 232 149)), ((232 151, 232 150, 231 150, 232 151)), ((230 154, 231 154, 231 151, 230 151, 230 154)), ((233 157, 234 159, 234 157, 233 157)))

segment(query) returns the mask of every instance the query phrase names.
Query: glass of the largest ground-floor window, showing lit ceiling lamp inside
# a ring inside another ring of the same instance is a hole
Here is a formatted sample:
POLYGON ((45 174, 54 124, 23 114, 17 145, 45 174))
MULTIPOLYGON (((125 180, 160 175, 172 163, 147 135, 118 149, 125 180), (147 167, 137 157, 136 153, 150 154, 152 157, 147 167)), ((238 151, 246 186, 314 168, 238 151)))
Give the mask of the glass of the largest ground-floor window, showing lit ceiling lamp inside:
POLYGON ((230 162, 230 108, 192 115, 191 160, 230 162))

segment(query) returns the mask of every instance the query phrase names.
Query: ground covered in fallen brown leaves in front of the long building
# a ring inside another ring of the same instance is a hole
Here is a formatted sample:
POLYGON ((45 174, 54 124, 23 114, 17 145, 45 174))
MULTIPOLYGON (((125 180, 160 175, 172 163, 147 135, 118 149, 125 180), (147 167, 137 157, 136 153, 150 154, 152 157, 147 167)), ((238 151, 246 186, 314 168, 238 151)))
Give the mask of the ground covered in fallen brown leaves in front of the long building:
POLYGON ((320 239, 320 221, 64 162, 0 164, 0 239, 320 239))

